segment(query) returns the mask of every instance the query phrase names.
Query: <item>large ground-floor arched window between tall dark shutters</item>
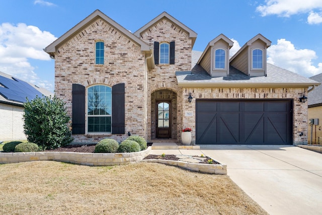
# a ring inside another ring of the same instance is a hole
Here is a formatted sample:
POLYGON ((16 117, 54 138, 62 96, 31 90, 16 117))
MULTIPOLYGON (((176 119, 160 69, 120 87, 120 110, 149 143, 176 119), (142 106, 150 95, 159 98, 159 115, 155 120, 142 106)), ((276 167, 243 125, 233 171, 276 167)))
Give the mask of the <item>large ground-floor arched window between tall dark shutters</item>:
POLYGON ((111 132, 112 88, 95 85, 88 88, 88 132, 111 132))

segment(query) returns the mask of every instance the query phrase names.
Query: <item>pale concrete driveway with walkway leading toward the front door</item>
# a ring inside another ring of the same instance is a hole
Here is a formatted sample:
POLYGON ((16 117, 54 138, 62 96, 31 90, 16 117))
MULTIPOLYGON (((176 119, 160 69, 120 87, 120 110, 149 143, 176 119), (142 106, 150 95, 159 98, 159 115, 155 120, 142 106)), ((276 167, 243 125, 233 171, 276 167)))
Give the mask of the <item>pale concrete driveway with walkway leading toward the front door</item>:
POLYGON ((151 154, 204 154, 270 214, 322 214, 322 154, 294 146, 200 146, 151 154))

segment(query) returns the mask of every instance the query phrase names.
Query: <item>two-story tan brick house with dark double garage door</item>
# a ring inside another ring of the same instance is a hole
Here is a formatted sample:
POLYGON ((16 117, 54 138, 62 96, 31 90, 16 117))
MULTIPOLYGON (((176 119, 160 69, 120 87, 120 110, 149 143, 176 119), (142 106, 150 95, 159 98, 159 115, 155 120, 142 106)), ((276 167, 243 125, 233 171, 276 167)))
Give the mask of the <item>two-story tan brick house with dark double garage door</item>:
POLYGON ((74 141, 131 133, 179 142, 190 127, 197 145, 307 142, 299 97, 319 83, 266 63, 271 41, 261 34, 230 59, 225 35, 199 58, 196 38, 166 12, 132 34, 97 10, 48 45, 74 141))

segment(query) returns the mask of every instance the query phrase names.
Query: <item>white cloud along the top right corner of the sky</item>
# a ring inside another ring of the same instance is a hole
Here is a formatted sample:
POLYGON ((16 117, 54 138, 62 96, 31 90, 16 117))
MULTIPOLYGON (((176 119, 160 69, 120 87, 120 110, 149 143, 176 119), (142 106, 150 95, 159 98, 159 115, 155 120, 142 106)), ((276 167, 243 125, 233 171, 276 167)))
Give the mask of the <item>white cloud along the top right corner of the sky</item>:
POLYGON ((298 13, 307 13, 313 9, 321 9, 321 0, 266 0, 265 5, 260 5, 256 11, 262 16, 279 15, 289 17, 298 13))

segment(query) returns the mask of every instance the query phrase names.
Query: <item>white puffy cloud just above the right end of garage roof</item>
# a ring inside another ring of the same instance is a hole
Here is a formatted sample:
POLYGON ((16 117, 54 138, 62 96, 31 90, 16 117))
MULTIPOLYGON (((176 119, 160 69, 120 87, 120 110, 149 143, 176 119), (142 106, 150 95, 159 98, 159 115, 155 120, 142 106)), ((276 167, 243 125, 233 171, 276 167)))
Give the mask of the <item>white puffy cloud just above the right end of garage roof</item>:
POLYGON ((285 39, 277 40, 276 45, 267 49, 267 62, 288 69, 305 77, 322 73, 322 63, 317 67, 312 65, 312 59, 317 58, 315 51, 310 49, 296 49, 285 39))

